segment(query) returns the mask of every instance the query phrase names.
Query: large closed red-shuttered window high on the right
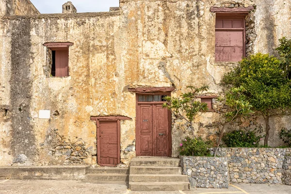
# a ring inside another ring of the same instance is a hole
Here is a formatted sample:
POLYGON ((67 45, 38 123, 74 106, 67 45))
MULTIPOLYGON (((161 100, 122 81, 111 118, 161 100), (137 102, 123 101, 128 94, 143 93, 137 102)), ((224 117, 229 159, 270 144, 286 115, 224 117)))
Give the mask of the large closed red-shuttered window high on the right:
POLYGON ((215 61, 238 62, 245 56, 244 16, 216 14, 215 61))

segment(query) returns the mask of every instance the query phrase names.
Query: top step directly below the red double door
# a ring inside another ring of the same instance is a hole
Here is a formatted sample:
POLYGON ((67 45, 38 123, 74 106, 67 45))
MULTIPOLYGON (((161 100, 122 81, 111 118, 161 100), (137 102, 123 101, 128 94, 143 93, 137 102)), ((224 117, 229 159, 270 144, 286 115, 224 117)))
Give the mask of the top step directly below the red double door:
POLYGON ((180 159, 167 157, 135 157, 132 166, 179 166, 180 159))

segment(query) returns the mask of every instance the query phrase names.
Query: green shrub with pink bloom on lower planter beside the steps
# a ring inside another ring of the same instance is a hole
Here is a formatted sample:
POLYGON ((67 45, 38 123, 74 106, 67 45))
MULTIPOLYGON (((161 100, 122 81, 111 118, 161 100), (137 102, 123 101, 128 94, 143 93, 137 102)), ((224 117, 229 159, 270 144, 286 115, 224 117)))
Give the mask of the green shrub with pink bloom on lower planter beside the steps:
POLYGON ((201 137, 189 138, 182 141, 179 147, 181 156, 211 156, 209 148, 213 146, 212 141, 203 141, 201 137))

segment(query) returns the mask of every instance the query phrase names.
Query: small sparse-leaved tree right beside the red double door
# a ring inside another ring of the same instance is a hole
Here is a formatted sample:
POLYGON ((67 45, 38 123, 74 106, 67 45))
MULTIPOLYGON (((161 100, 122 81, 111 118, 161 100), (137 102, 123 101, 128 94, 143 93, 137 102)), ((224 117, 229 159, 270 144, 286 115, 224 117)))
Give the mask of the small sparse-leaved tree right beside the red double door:
POLYGON ((183 93, 180 97, 165 97, 166 102, 163 104, 163 107, 170 110, 175 116, 184 119, 190 125, 194 139, 194 120, 202 113, 208 111, 207 104, 198 101, 196 96, 207 91, 209 86, 202 86, 200 88, 187 86, 187 88, 190 89, 190 92, 183 93))

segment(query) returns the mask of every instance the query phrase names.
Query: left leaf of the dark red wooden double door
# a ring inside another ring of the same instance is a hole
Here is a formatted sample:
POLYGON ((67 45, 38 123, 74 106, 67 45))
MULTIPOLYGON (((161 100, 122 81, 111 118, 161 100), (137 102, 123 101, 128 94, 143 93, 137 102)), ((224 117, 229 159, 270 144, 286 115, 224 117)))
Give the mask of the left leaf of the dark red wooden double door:
POLYGON ((137 149, 139 156, 153 156, 153 106, 151 104, 138 105, 138 136, 137 149))

